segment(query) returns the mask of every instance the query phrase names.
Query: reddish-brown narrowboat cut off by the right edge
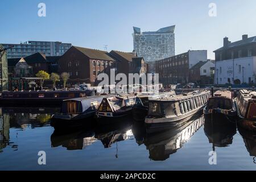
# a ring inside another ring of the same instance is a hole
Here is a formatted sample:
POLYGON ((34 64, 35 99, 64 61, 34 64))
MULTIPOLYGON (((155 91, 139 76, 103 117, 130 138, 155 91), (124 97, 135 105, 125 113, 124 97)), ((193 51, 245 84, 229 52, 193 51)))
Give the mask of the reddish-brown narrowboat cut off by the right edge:
POLYGON ((238 125, 247 130, 256 131, 256 92, 240 90, 236 97, 238 125))

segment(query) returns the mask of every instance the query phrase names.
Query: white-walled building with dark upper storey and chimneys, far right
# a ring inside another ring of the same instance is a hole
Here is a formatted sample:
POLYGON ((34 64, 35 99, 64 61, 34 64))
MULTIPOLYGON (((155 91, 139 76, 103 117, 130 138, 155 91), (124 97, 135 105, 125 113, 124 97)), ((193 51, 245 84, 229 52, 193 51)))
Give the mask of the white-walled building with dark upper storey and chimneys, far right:
POLYGON ((215 52, 215 84, 255 84, 256 36, 230 42, 224 38, 223 47, 215 52))

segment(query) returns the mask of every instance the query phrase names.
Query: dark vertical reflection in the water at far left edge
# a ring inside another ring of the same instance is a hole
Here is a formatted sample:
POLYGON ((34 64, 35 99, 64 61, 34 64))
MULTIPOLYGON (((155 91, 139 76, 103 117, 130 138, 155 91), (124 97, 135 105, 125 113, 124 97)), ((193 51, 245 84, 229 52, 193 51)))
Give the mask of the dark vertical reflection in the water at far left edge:
POLYGON ((2 114, 2 110, 0 108, 0 152, 9 144, 10 136, 10 118, 8 114, 2 114))

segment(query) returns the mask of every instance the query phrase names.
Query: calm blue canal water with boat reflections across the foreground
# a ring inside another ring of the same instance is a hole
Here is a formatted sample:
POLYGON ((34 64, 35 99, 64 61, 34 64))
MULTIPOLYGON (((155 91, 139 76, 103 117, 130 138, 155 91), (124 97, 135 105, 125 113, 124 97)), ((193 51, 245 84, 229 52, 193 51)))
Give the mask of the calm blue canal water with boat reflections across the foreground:
MULTIPOLYGON (((55 108, 1 108, 0 170, 255 170, 256 134, 203 115, 182 127, 148 133, 143 123, 56 133, 55 108), (209 152, 217 165, 209 165, 209 152), (46 152, 46 165, 38 152, 46 152)), ((122 122, 122 121, 121 121, 122 122)))

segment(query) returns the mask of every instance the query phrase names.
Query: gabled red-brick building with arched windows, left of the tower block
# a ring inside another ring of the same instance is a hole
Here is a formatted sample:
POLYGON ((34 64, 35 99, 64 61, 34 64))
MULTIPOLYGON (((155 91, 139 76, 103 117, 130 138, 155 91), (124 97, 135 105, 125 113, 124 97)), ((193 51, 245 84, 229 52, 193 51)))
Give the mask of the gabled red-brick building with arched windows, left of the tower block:
POLYGON ((96 85, 100 73, 109 75, 115 67, 115 60, 106 51, 72 46, 60 57, 59 73, 68 72, 68 84, 89 83, 96 85))

